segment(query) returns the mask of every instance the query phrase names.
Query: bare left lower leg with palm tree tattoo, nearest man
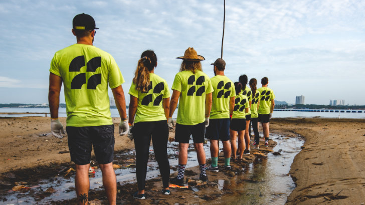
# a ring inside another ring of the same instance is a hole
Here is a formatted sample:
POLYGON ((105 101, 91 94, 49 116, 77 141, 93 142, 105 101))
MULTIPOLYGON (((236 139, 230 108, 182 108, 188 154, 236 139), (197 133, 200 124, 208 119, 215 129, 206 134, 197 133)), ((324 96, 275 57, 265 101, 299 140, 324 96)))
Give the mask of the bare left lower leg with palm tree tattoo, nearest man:
POLYGON ((89 167, 90 164, 85 164, 85 165, 76 164, 75 187, 79 205, 85 205, 88 203, 89 188, 90 188, 89 167))

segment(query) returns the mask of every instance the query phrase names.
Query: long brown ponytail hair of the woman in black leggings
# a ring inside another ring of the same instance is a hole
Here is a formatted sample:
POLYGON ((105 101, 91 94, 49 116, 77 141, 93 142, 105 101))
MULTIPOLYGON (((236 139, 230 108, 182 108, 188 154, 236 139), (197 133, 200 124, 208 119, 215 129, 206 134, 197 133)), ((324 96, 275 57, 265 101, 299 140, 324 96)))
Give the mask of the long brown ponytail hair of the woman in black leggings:
POLYGON ((137 68, 134 73, 133 83, 135 89, 147 92, 149 86, 149 72, 157 66, 157 56, 152 50, 144 51, 141 59, 138 60, 137 68))

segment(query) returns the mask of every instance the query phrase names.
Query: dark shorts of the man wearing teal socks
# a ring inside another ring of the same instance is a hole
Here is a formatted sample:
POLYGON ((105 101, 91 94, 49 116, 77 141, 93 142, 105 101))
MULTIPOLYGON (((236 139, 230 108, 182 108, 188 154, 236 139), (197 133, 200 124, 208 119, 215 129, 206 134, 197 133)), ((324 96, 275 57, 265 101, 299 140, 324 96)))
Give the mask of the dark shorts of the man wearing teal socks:
POLYGON ((206 128, 206 138, 213 140, 230 140, 230 118, 209 119, 209 126, 206 128))

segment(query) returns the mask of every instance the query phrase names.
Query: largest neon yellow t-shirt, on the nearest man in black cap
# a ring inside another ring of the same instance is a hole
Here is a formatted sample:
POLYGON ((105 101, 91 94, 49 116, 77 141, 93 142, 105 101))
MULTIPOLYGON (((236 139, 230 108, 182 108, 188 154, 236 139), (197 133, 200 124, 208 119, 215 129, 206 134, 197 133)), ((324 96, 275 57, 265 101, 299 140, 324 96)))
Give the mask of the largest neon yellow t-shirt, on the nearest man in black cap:
POLYGON ((67 126, 111 125, 108 85, 124 83, 114 58, 85 44, 74 44, 55 53, 50 72, 63 80, 67 126))

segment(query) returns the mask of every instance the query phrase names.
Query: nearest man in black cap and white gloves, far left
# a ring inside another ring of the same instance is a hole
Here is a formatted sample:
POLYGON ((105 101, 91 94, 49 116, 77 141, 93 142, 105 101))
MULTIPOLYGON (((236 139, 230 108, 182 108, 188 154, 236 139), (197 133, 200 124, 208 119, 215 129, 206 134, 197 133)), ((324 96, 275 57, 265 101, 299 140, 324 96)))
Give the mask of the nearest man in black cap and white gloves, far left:
POLYGON ((58 120, 62 82, 66 100, 66 131, 71 160, 76 164, 75 187, 79 204, 88 203, 91 150, 103 174, 109 204, 116 203, 116 177, 113 169, 114 125, 110 117, 108 85, 112 89, 121 122, 120 135, 128 132, 123 88, 124 79, 114 58, 93 46, 95 21, 87 14, 76 15, 72 33, 77 44, 55 53, 50 68, 49 105, 51 130, 62 138, 58 120))

